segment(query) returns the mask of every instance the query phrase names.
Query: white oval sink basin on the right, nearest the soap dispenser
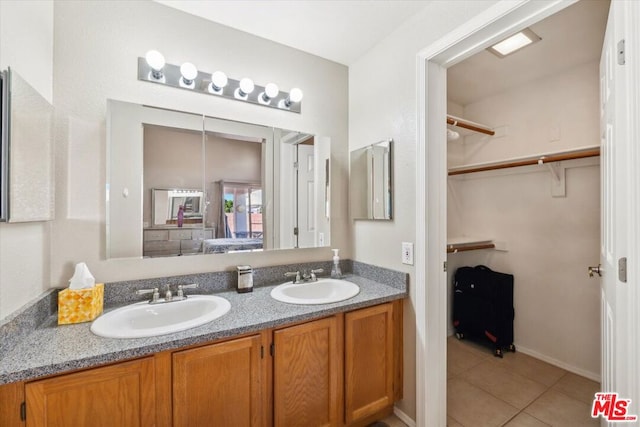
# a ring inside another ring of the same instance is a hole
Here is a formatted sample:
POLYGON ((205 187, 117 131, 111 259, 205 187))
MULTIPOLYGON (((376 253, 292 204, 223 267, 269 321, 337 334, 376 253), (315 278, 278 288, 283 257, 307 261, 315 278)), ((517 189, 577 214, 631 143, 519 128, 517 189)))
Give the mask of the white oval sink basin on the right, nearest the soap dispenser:
POLYGON ((290 304, 329 304, 353 298, 360 292, 355 283, 340 279, 318 279, 317 282, 283 283, 271 291, 271 297, 290 304))

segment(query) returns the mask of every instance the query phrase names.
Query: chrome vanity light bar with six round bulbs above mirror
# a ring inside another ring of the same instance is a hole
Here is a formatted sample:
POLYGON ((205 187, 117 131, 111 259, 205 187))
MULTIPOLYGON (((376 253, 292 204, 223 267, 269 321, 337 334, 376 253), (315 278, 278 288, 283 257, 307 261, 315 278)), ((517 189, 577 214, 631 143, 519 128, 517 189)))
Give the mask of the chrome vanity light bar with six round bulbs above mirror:
MULTIPOLYGON (((199 71, 195 69, 195 67, 191 68, 192 64, 189 64, 186 68, 190 74, 185 77, 183 73, 185 71, 184 64, 182 66, 183 72, 181 72, 180 66, 165 64, 163 61, 159 64, 161 66, 156 65, 155 68, 152 68, 147 62, 147 59, 138 58, 138 80, 204 93, 206 95, 221 96, 223 98, 249 102, 251 104, 277 108, 298 114, 302 111, 302 91, 300 89, 294 88, 291 90, 291 93, 278 91, 275 96, 270 96, 276 93, 276 85, 270 83, 266 87, 258 86, 246 78, 242 80, 227 78, 224 87, 217 87, 211 84, 211 80, 213 79, 211 73, 199 71), (251 86, 253 86, 252 91, 249 93, 244 91, 248 90, 247 88, 251 86)), ((224 76, 224 74, 220 72, 214 73, 218 79, 220 78, 220 74, 224 76)), ((222 79, 222 81, 224 81, 224 79, 222 79)))

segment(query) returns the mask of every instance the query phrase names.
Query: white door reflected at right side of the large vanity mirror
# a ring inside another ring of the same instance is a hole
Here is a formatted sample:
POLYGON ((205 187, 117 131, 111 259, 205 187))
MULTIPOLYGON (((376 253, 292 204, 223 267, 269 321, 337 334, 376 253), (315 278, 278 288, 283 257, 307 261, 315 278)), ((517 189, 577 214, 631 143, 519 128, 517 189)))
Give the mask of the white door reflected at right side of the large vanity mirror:
POLYGON ((314 146, 298 144, 298 247, 316 246, 314 146))

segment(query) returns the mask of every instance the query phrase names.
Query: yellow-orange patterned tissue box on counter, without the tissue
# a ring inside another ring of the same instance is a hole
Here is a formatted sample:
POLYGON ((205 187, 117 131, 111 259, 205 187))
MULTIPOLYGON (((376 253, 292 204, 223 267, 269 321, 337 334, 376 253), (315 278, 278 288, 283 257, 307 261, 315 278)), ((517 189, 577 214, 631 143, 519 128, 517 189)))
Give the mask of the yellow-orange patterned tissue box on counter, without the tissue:
POLYGON ((90 322, 102 314, 104 283, 58 292, 58 325, 90 322))

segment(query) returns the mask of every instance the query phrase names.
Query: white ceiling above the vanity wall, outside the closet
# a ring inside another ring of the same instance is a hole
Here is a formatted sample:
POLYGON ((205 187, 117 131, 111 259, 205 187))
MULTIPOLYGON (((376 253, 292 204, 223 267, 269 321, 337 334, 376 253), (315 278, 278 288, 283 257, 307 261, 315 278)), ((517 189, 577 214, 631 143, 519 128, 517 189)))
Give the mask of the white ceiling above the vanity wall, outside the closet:
POLYGON ((158 3, 350 65, 430 0, 156 0, 158 3))

